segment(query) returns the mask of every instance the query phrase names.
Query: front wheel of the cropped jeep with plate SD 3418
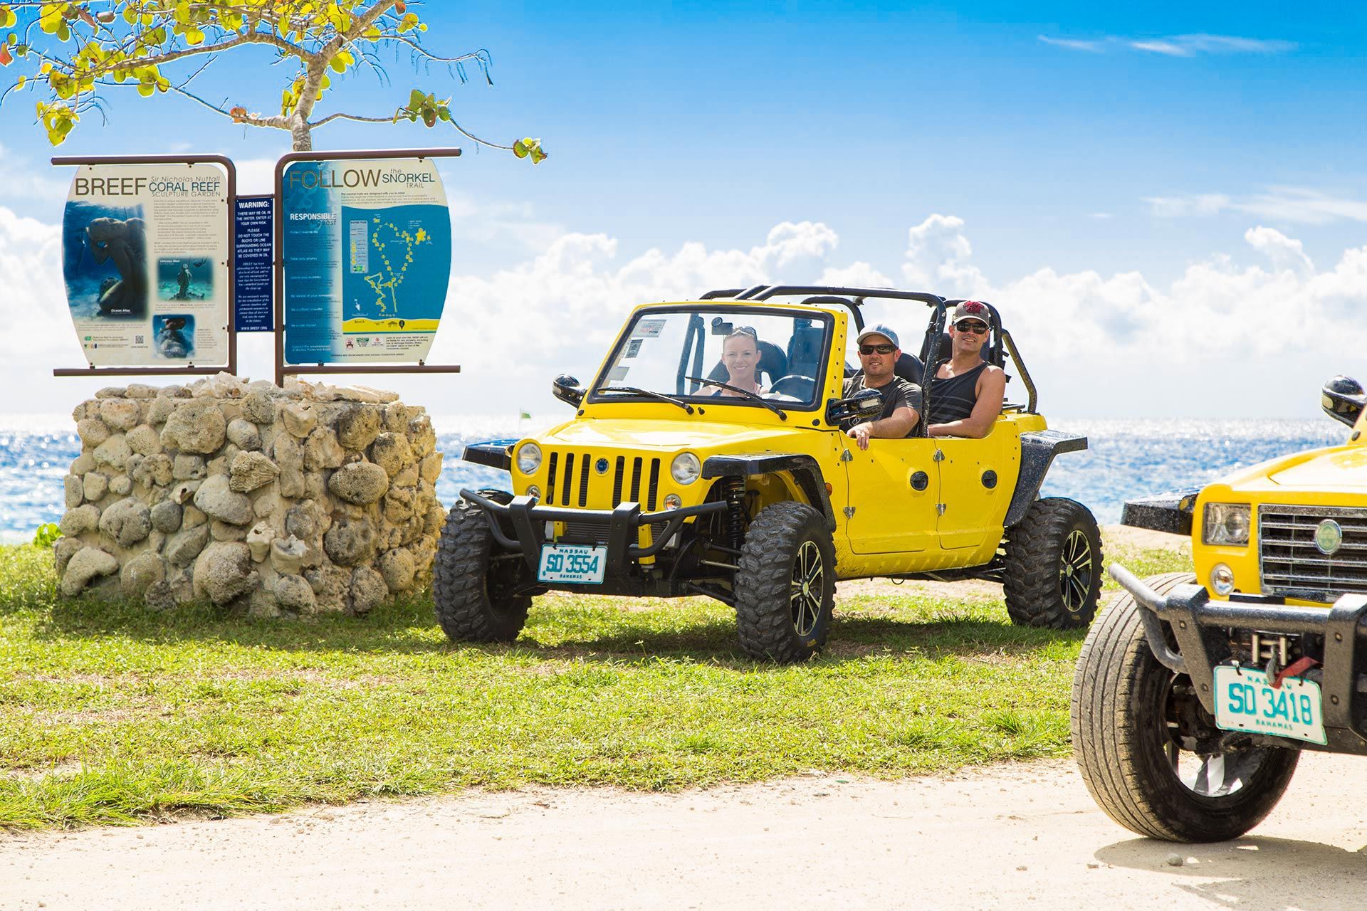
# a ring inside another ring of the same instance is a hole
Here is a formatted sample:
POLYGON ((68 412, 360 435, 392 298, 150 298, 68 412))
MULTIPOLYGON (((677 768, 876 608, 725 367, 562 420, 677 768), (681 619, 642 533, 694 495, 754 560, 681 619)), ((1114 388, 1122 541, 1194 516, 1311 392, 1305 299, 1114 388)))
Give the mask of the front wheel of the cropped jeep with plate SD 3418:
MULTIPOLYGON (((1187 572, 1146 579, 1167 593, 1187 572)), ((1092 798, 1131 832, 1167 841, 1237 839, 1266 817, 1296 772, 1299 750, 1244 747, 1200 757, 1185 747, 1192 720, 1214 732, 1191 679, 1144 639, 1133 595, 1121 593, 1087 635, 1070 703, 1073 758, 1092 798), (1185 721, 1184 721, 1185 720, 1185 721)))

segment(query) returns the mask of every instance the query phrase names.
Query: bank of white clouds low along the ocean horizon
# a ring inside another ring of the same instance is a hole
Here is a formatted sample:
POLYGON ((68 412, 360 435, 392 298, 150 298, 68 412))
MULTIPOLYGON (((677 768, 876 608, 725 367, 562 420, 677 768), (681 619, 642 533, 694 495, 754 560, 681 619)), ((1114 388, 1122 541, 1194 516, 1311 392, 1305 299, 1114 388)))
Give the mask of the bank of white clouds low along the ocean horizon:
MULTIPOLYGON (((813 221, 775 225, 748 249, 689 242, 623 254, 623 242, 606 234, 563 234, 513 268, 452 276, 431 362, 461 363, 462 374, 391 385, 439 414, 517 407, 556 414, 551 377, 569 372, 588 380, 633 305, 779 280, 886 287, 898 275, 904 287, 998 305, 1059 412, 1228 414, 1230 389, 1245 414, 1305 412, 1307 385, 1318 389, 1321 374, 1348 366, 1326 355, 1367 341, 1356 329, 1367 306, 1367 247, 1319 268, 1300 240, 1274 228, 1249 228, 1244 242, 1259 257, 1255 265, 1215 255, 1159 285, 1140 272, 1065 273, 1048 265, 994 276, 979 264, 964 220, 940 213, 908 229, 899 275, 868 261, 837 261, 837 232, 813 221), (1307 344, 1305 329, 1325 325, 1336 326, 1331 350, 1307 344), (1270 376, 1282 382, 1259 378, 1270 376)), ((0 311, 23 339, 11 339, 0 358, 0 384, 25 389, 16 408, 68 408, 83 381, 51 377, 53 366, 81 363, 57 227, 0 206, 0 311)), ((904 316, 893 325, 915 337, 919 321, 904 316)), ((269 374, 264 341, 245 343, 254 354, 243 358, 243 373, 269 374)))

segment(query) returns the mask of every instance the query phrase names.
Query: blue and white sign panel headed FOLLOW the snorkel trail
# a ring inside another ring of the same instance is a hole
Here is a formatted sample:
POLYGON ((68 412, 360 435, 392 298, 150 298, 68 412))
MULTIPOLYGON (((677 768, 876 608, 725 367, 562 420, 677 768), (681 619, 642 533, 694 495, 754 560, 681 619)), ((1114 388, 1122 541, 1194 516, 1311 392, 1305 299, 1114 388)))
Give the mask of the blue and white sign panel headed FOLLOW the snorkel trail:
POLYGON ((432 160, 294 161, 280 183, 286 362, 427 359, 451 275, 432 160))

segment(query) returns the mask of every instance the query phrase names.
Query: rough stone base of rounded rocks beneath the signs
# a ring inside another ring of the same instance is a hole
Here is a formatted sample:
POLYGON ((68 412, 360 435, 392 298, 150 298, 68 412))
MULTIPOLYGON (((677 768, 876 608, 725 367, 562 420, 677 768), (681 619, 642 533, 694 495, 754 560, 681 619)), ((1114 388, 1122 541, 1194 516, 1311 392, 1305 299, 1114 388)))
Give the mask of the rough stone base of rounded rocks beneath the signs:
POLYGON ((71 415, 62 593, 298 616, 421 589, 446 518, 442 453, 424 408, 396 399, 226 374, 101 389, 71 415))

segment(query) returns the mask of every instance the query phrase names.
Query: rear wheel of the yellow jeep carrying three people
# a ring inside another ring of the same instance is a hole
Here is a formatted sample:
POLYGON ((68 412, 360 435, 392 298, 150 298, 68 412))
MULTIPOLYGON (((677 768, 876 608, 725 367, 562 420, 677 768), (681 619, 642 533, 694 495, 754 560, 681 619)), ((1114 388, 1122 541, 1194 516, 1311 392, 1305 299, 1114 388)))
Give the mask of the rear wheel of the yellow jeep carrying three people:
POLYGON ((1091 509, 1064 497, 1032 503, 1007 533, 1002 590, 1017 626, 1085 628, 1102 591, 1102 535, 1091 509))

